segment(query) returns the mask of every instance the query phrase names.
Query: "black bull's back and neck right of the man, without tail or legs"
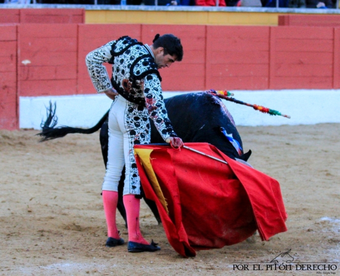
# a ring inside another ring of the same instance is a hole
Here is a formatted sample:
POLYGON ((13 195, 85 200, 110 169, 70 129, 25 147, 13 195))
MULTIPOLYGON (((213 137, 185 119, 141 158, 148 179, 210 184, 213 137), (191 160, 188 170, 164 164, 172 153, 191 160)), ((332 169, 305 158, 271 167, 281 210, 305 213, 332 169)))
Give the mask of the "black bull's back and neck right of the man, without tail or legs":
MULTIPOLYGON (((239 132, 219 98, 208 93, 188 93, 165 99, 164 103, 175 132, 184 142, 207 142, 230 157, 239 156, 220 131, 223 127, 242 147, 239 132)), ((151 126, 151 143, 163 143, 153 123, 151 126)))

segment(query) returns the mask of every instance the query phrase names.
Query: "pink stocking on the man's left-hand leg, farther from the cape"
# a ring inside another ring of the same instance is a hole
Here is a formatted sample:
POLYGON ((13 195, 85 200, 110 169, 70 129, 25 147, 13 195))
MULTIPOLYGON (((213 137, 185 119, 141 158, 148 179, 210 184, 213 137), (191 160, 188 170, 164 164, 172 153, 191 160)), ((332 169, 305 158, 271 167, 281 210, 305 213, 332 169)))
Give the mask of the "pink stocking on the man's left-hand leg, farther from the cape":
POLYGON ((120 239, 116 225, 118 192, 104 190, 102 194, 106 223, 108 225, 108 236, 114 239, 120 239))

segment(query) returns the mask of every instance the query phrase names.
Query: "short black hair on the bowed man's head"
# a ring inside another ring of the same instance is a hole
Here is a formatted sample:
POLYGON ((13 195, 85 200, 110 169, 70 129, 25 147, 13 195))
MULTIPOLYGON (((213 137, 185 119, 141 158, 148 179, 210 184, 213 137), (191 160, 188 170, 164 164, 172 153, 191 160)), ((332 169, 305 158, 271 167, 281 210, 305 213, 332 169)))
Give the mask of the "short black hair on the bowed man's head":
POLYGON ((159 47, 164 48, 164 55, 175 55, 177 57, 177 61, 181 61, 183 59, 183 47, 180 38, 177 36, 170 33, 160 36, 159 33, 157 33, 152 42, 154 49, 159 47))

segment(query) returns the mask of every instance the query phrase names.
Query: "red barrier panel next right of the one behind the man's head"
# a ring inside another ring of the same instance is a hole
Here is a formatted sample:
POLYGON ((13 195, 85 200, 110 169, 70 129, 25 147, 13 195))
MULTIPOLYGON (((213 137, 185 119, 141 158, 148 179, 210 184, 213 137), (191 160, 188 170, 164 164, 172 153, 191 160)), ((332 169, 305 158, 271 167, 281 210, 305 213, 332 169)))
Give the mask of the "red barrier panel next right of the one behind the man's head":
POLYGON ((269 27, 207 27, 207 89, 267 89, 269 27))

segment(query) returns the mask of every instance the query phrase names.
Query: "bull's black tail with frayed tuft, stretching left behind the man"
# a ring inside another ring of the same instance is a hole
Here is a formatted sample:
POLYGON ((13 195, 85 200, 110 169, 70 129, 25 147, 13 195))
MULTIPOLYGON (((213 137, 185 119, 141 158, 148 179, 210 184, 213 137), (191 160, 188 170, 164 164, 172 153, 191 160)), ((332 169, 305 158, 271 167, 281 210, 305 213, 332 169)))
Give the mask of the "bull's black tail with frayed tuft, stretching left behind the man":
POLYGON ((106 112, 105 115, 99 120, 99 122, 94 127, 89 129, 71 128, 66 126, 54 128, 58 120, 57 116, 55 115, 55 109, 56 104, 54 103, 53 106, 52 103, 50 102, 50 106, 47 108, 47 119, 45 122, 41 123, 42 132, 37 134, 42 137, 40 142, 64 137, 69 133, 83 133, 83 134, 94 133, 101 128, 109 114, 109 111, 106 112))

